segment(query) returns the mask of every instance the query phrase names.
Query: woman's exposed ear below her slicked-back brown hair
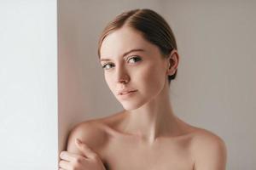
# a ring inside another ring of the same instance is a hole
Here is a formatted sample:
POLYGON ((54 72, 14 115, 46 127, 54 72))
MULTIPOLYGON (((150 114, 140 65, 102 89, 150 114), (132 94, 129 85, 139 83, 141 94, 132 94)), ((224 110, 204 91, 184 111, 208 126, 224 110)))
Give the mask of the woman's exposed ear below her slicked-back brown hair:
POLYGON ((177 65, 179 62, 179 55, 177 54, 177 50, 173 49, 169 57, 167 58, 167 70, 166 74, 172 76, 177 70, 177 65))

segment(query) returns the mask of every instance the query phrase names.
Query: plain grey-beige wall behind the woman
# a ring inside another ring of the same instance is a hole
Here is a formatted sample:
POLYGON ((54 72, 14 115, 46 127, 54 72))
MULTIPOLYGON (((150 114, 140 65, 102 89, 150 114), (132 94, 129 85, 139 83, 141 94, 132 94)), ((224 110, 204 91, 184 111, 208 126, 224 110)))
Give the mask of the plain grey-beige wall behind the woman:
POLYGON ((59 0, 59 150, 75 123, 123 109, 104 80, 97 40, 117 14, 152 8, 177 39, 176 115, 224 139, 227 169, 256 169, 255 7, 255 1, 59 0))

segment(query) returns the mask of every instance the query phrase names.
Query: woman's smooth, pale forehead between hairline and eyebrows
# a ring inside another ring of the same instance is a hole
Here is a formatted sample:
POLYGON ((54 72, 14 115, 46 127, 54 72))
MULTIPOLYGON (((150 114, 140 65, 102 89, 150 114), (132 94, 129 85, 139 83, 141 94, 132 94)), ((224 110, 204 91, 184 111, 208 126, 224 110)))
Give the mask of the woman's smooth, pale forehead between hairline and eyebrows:
POLYGON ((124 26, 105 37, 102 42, 101 56, 108 58, 114 55, 120 56, 134 48, 143 48, 147 53, 154 50, 156 46, 145 40, 140 31, 124 26))

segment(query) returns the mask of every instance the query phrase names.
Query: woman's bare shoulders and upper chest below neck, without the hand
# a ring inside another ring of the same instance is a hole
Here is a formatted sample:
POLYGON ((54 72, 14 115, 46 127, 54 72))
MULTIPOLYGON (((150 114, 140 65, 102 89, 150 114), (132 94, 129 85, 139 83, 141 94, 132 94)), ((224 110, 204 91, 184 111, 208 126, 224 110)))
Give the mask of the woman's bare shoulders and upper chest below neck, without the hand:
POLYGON ((175 133, 166 133, 149 143, 142 135, 125 130, 128 120, 129 113, 121 111, 79 123, 70 133, 67 151, 84 156, 74 142, 81 139, 101 158, 107 170, 225 169, 224 141, 214 133, 176 117, 175 133))

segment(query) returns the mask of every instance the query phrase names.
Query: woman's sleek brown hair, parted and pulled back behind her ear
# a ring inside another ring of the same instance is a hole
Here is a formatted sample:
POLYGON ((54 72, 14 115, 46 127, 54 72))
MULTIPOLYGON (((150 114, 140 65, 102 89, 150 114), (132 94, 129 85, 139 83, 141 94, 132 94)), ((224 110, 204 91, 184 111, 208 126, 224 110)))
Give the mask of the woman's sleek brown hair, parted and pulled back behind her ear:
MULTIPOLYGON (((163 57, 169 57, 173 49, 177 50, 177 43, 171 27, 166 20, 152 9, 142 8, 126 11, 116 16, 102 31, 98 42, 98 57, 101 58, 101 47, 105 37, 123 26, 129 26, 140 31, 143 37, 160 49, 163 57)), ((169 84, 177 75, 177 70, 172 76, 168 76, 169 84)))

